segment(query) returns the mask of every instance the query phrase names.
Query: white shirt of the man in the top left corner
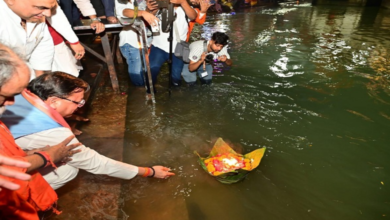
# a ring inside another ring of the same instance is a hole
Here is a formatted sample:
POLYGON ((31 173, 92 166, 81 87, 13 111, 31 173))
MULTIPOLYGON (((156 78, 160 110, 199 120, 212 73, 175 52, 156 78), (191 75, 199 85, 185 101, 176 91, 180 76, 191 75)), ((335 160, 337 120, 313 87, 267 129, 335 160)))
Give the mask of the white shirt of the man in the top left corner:
MULTIPOLYGON (((46 23, 26 23, 0 0, 0 41, 6 46, 20 48, 35 70, 51 70, 54 45, 46 23)), ((34 75, 32 72, 31 75, 34 75)))

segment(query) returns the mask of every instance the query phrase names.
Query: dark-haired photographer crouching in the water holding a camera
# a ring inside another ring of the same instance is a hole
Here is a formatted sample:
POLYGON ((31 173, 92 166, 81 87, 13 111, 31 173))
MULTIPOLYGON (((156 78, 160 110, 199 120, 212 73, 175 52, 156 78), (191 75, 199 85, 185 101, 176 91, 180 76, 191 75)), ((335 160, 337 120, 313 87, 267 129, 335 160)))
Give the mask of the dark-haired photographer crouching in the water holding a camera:
POLYGON ((231 66, 232 60, 227 52, 229 37, 225 33, 215 32, 207 43, 206 41, 195 41, 190 45, 190 63, 184 64, 182 76, 184 81, 191 86, 196 83, 196 75, 199 76, 202 84, 211 84, 213 77, 213 60, 225 62, 231 66), (206 46, 207 45, 207 46, 206 46))

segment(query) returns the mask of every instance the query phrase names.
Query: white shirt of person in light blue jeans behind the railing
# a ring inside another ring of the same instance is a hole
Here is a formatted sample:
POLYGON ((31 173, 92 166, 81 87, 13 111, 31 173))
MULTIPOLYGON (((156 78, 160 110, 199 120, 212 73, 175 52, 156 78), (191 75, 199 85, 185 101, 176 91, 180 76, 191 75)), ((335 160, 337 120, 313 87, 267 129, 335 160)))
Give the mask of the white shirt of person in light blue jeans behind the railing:
MULTIPOLYGON (((134 0, 136 1, 136 0, 134 0)), ((139 3, 139 10, 145 10, 146 8, 146 2, 142 1, 139 3)), ((116 11, 116 16, 120 18, 127 18, 126 16, 123 15, 123 10, 125 9, 134 9, 134 5, 131 4, 130 2, 127 2, 127 4, 121 4, 118 2, 118 0, 115 0, 115 11, 116 11)), ((119 46, 123 46, 126 43, 130 44, 132 47, 138 48, 138 40, 141 43, 142 47, 142 38, 141 36, 138 39, 137 33, 134 31, 132 28, 132 25, 125 25, 123 26, 122 31, 119 33, 119 46)))

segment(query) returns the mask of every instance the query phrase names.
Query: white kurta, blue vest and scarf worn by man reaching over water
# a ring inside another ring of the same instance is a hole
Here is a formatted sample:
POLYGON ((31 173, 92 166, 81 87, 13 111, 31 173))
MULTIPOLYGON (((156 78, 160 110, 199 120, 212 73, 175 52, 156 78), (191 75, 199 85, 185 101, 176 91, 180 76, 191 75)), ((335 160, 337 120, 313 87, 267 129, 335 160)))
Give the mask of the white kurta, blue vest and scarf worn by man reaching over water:
MULTIPOLYGON (((15 142, 24 151, 42 148, 42 143, 52 146, 58 144, 58 140, 73 135, 69 125, 56 110, 42 104, 43 102, 34 94, 29 94, 23 92, 15 96, 15 105, 9 106, 1 117, 1 120, 9 126, 15 142), (50 110, 46 111, 47 109, 50 110)), ((63 105, 75 105, 67 100, 62 102, 63 105)), ((77 138, 69 144, 73 143, 79 143, 77 138)), ((75 149, 81 152, 74 154, 71 161, 58 165, 57 169, 47 167, 39 171, 53 189, 58 189, 74 179, 79 169, 127 180, 138 174, 137 166, 105 157, 85 145, 75 149)))

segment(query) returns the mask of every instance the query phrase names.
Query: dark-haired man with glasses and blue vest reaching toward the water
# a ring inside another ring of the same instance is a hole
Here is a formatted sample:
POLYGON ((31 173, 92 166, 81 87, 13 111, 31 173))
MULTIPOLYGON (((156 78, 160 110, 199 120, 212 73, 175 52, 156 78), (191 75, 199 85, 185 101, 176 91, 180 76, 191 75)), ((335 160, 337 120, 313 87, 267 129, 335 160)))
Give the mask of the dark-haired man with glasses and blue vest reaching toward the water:
MULTIPOLYGON (((86 82, 72 75, 44 73, 32 80, 21 95, 15 96, 15 104, 7 108, 1 120, 23 150, 35 150, 42 147, 42 143, 58 143, 58 140, 63 140, 62 137, 72 135, 64 118, 85 104, 84 92, 87 88, 86 82)), ((74 138, 70 143, 78 142, 74 138)), ((39 170, 53 189, 72 180, 79 169, 126 180, 136 175, 154 178, 174 175, 167 167, 137 167, 107 158, 84 145, 75 150, 80 152, 70 154, 71 160, 66 164, 57 164, 57 169, 51 167, 39 170)))

